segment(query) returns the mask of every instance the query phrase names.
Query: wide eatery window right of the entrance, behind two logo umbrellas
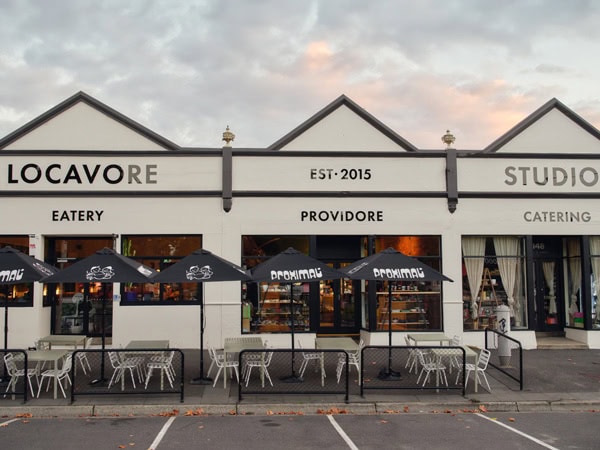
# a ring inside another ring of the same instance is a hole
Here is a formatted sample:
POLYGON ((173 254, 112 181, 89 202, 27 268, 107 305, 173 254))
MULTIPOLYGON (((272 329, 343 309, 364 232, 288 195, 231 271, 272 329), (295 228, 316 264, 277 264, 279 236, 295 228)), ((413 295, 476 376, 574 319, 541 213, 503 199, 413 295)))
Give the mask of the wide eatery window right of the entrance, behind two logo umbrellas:
MULTIPOLYGON (((123 236, 122 254, 157 271, 202 248, 201 236, 123 236)), ((197 304, 202 283, 122 283, 122 305, 197 304)))

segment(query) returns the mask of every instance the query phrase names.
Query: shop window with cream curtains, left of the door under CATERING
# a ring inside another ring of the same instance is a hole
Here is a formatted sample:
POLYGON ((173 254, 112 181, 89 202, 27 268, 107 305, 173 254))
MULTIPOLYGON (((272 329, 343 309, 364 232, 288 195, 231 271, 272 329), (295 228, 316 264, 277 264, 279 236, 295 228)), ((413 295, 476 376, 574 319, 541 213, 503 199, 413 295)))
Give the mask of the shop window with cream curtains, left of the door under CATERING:
POLYGON ((517 236, 464 236, 463 328, 496 329, 496 307, 508 305, 511 327, 527 328, 524 241, 517 236))

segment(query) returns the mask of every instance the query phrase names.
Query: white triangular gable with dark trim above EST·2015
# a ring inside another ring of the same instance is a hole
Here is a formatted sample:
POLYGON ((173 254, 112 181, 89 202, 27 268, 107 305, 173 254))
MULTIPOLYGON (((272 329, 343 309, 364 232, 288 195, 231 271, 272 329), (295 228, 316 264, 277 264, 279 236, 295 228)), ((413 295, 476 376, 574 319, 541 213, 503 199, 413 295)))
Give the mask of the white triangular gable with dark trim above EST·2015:
POLYGON ((269 150, 417 151, 345 95, 268 147, 269 150))

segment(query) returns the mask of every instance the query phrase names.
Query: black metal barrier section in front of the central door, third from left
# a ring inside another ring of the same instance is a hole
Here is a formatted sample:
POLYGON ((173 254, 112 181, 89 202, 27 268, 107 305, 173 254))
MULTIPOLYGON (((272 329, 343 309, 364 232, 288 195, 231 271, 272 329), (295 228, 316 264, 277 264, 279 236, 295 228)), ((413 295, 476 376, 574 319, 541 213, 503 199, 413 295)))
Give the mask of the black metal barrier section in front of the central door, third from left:
POLYGON ((243 350, 237 362, 240 401, 274 394, 331 394, 348 401, 349 356, 343 350, 243 350))

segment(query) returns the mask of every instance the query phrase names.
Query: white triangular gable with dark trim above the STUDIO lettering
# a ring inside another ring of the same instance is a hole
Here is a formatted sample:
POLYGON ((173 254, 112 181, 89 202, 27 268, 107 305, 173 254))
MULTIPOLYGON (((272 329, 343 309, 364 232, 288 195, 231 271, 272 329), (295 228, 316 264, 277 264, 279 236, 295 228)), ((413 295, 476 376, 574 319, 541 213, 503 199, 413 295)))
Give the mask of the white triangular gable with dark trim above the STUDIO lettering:
POLYGON ((553 98, 500 136, 484 153, 600 153, 600 132, 553 98))

